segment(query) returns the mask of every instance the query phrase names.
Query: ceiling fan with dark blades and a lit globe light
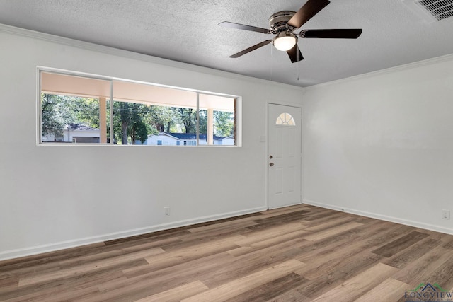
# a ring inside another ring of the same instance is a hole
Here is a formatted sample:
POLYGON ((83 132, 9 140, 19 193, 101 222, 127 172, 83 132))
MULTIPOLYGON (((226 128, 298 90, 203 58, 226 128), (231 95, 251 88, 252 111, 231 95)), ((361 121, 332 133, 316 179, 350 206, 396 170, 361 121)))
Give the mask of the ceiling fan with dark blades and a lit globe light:
POLYGON ((236 28, 240 30, 251 30, 258 33, 273 34, 275 37, 270 40, 265 40, 248 47, 241 52, 232 54, 230 58, 241 57, 253 50, 268 45, 270 42, 277 48, 287 52, 292 63, 299 62, 304 59, 302 53, 297 46, 299 38, 334 38, 334 39, 357 39, 362 33, 362 29, 317 29, 317 30, 301 30, 299 33, 294 33, 294 30, 300 28, 306 21, 309 21, 316 13, 319 13, 331 1, 328 0, 308 0, 299 11, 279 11, 274 13, 269 18, 270 29, 257 28, 256 26, 243 25, 232 22, 221 22, 220 26, 226 28, 236 28))

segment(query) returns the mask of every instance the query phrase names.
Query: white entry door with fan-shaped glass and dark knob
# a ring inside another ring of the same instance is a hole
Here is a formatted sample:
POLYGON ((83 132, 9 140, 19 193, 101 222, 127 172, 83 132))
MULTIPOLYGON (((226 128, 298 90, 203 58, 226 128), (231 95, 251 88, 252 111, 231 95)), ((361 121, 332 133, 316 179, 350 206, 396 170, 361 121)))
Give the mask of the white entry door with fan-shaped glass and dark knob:
POLYGON ((301 108, 269 104, 268 207, 302 202, 301 108))

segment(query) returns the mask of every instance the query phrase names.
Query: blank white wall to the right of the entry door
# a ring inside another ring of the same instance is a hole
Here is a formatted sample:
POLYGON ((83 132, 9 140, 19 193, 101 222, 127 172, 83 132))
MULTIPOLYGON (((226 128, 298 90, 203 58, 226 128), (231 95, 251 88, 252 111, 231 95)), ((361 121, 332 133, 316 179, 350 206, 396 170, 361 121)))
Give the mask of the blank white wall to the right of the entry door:
POLYGON ((312 86, 303 104, 305 202, 453 233, 453 56, 312 86))

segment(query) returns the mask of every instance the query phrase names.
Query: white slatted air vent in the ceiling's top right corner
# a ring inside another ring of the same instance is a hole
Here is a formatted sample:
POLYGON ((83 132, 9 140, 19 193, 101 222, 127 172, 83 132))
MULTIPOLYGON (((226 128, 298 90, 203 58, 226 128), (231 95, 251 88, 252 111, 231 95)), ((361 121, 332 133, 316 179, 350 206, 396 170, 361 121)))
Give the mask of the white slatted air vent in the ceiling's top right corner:
MULTIPOLYGON (((425 21, 434 22, 453 17, 453 0, 402 0, 415 13, 423 13, 425 21)), ((420 15, 421 16, 421 15, 420 15)))

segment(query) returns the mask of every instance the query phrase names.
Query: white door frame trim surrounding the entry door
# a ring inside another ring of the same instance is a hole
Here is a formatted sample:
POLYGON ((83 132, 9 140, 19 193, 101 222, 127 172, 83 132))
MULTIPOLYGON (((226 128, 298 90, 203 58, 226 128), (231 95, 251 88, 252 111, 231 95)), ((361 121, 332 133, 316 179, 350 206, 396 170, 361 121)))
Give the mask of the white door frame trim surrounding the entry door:
POLYGON ((266 199, 266 208, 269 209, 269 167, 268 167, 268 162, 269 162, 269 105, 282 105, 282 106, 287 106, 287 107, 294 107, 294 108, 299 108, 301 112, 301 120, 298 122, 301 125, 301 138, 300 138, 300 154, 301 154, 301 161, 300 161, 300 203, 302 204, 304 202, 304 171, 302 168, 304 167, 304 131, 302 129, 302 120, 304 116, 304 110, 302 108, 302 105, 296 104, 296 103, 289 103, 289 102, 276 102, 276 101, 268 101, 266 104, 266 129, 265 129, 265 134, 266 134, 266 147, 265 147, 265 158, 264 158, 264 163, 266 167, 266 173, 265 173, 265 199, 266 199))

